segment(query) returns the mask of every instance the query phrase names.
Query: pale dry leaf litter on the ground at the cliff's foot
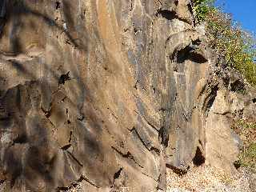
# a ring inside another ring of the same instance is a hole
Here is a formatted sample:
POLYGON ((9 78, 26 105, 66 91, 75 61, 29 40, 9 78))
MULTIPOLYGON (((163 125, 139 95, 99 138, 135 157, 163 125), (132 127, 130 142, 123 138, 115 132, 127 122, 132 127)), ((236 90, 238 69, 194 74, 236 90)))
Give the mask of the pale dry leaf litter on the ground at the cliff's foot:
POLYGON ((167 192, 250 192, 248 174, 240 170, 231 178, 221 170, 212 167, 196 167, 183 176, 167 173, 167 192))

